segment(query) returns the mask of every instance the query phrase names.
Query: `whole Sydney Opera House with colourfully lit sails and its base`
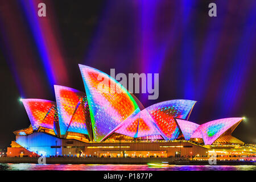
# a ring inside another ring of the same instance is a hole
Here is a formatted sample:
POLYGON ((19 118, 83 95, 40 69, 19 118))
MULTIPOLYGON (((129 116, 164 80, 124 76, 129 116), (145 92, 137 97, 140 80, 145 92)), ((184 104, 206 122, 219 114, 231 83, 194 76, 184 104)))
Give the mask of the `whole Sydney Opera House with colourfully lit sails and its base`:
POLYGON ((203 125, 189 121, 196 101, 169 100, 144 108, 118 81, 79 65, 85 92, 54 85, 55 101, 23 98, 31 125, 14 131, 8 156, 171 157, 255 155, 232 136, 243 118, 203 125), (100 89, 102 79, 109 85, 100 89), (100 85, 100 86, 99 86, 100 85))

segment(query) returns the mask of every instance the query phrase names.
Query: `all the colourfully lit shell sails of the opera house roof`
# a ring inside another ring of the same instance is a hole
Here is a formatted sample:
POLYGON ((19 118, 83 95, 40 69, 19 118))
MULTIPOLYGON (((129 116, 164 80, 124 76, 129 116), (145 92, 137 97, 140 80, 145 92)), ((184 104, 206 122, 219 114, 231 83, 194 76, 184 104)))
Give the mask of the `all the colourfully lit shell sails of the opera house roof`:
MULTIPOLYGON (((131 94, 114 78, 94 68, 79 67, 88 97, 79 90, 55 85, 57 106, 48 100, 22 100, 31 121, 31 133, 45 127, 53 129, 57 137, 69 131, 88 134, 97 142, 113 133, 165 140, 177 139, 182 133, 186 140, 203 138, 205 144, 212 144, 242 121, 225 118, 200 126, 186 121, 196 103, 191 100, 164 101, 141 111, 131 94)), ((18 135, 24 134, 19 130, 18 135)))

